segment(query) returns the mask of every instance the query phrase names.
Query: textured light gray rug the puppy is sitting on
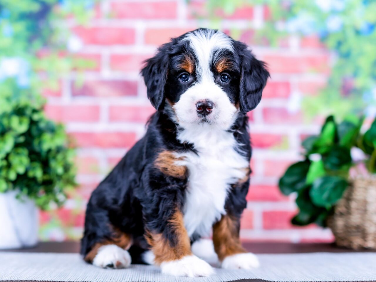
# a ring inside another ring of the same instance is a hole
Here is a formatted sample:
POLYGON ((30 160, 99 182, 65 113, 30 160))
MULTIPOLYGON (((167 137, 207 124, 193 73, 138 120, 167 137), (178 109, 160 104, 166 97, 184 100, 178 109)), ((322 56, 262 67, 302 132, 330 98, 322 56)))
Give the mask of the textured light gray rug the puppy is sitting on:
POLYGON ((255 270, 215 269, 211 277, 171 277, 158 267, 132 265, 124 270, 100 269, 86 264, 77 254, 0 253, 0 281, 33 280, 63 282, 194 282, 264 279, 270 281, 373 281, 376 253, 309 253, 258 255, 255 270))

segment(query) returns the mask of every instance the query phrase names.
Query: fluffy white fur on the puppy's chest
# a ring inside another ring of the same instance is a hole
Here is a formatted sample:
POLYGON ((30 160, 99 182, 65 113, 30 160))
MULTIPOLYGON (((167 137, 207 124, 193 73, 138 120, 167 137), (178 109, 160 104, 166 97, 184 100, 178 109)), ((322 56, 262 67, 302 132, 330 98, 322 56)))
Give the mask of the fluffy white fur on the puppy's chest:
POLYGON ((197 154, 179 155, 184 157, 179 164, 189 171, 184 224, 189 236, 208 236, 212 224, 225 213, 230 185, 246 176, 249 163, 234 149, 237 143, 232 133, 197 127, 200 126, 178 135, 180 141, 194 144, 197 150, 197 154))

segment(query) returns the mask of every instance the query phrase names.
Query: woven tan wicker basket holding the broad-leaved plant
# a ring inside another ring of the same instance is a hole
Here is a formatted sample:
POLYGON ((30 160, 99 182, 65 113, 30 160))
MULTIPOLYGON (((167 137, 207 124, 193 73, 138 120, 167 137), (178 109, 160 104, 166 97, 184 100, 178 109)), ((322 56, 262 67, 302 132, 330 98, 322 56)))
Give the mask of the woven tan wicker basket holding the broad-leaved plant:
POLYGON ((376 177, 353 179, 327 225, 338 246, 376 249, 376 177))

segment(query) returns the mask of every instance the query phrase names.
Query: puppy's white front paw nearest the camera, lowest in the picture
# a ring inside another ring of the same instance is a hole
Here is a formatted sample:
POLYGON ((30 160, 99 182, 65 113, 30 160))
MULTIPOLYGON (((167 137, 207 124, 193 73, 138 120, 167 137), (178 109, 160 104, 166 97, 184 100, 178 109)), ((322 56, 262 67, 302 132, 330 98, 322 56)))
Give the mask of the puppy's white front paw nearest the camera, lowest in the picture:
POLYGON ((162 262, 161 270, 164 274, 188 277, 206 277, 214 273, 214 269, 206 261, 194 255, 162 262))

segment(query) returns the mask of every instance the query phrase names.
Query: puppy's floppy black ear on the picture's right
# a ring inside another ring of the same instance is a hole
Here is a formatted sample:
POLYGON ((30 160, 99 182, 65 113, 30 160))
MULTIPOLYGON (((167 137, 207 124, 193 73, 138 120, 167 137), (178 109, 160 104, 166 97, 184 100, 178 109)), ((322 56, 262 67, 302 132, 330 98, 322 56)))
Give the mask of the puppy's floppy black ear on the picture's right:
POLYGON ((260 103, 262 90, 270 74, 266 69, 265 63, 256 59, 247 49, 246 44, 239 41, 237 43, 242 62, 239 106, 240 111, 246 114, 260 103))

